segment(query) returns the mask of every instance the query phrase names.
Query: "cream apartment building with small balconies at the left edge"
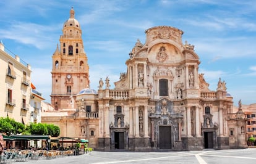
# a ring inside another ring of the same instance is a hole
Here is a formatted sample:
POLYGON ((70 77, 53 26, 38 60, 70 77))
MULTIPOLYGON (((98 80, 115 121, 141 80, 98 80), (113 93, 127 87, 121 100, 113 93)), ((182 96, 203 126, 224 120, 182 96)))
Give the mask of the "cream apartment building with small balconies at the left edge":
POLYGON ((27 125, 30 122, 30 75, 29 64, 12 54, 0 43, 0 117, 14 118, 27 125))

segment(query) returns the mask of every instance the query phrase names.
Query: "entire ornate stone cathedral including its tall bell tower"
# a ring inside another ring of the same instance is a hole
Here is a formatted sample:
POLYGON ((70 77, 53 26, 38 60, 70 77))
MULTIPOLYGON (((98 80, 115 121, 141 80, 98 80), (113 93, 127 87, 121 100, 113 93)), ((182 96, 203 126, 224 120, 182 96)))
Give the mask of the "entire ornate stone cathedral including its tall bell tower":
POLYGON ((127 72, 120 74, 114 89, 105 77, 97 91, 89 87, 74 9, 62 31, 61 48, 53 54, 51 103, 56 112, 41 119, 60 126, 61 136, 86 138, 100 150, 247 147, 241 106, 233 111, 225 81, 219 80, 216 91, 208 89, 198 73, 194 46, 182 43, 183 31, 168 26, 146 30, 145 43, 137 40, 126 60, 127 72))

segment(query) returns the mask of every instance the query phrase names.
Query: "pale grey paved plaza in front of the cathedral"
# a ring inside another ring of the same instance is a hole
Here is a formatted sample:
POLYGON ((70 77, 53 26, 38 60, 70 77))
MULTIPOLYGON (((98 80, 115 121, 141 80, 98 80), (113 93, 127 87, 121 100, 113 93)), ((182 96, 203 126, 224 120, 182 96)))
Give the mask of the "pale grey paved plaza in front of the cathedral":
POLYGON ((256 149, 202 150, 202 151, 161 151, 161 152, 100 152, 90 154, 58 157, 53 159, 30 160, 17 163, 256 163, 256 149))

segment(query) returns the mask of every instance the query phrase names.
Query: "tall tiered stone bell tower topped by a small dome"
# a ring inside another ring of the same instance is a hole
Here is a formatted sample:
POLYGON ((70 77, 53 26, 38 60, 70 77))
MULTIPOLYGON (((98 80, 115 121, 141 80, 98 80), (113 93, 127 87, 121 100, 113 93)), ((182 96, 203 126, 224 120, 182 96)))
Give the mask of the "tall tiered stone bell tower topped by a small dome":
POLYGON ((51 104, 55 110, 75 109, 75 97, 84 88, 89 88, 89 66, 84 51, 82 30, 75 19, 73 7, 70 17, 63 25, 59 45, 53 56, 51 71, 51 104))

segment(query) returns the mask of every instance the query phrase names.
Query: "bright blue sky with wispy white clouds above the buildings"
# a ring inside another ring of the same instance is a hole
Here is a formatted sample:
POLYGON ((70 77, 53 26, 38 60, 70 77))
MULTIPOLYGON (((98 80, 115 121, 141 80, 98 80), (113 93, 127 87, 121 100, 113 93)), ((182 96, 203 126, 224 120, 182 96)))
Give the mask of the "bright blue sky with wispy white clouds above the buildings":
POLYGON ((32 66, 32 83, 50 102, 51 68, 62 25, 74 6, 90 67, 90 88, 109 76, 111 88, 145 30, 167 25, 195 46, 211 90, 219 78, 242 104, 256 103, 256 1, 240 0, 3 0, 0 40, 32 66))

